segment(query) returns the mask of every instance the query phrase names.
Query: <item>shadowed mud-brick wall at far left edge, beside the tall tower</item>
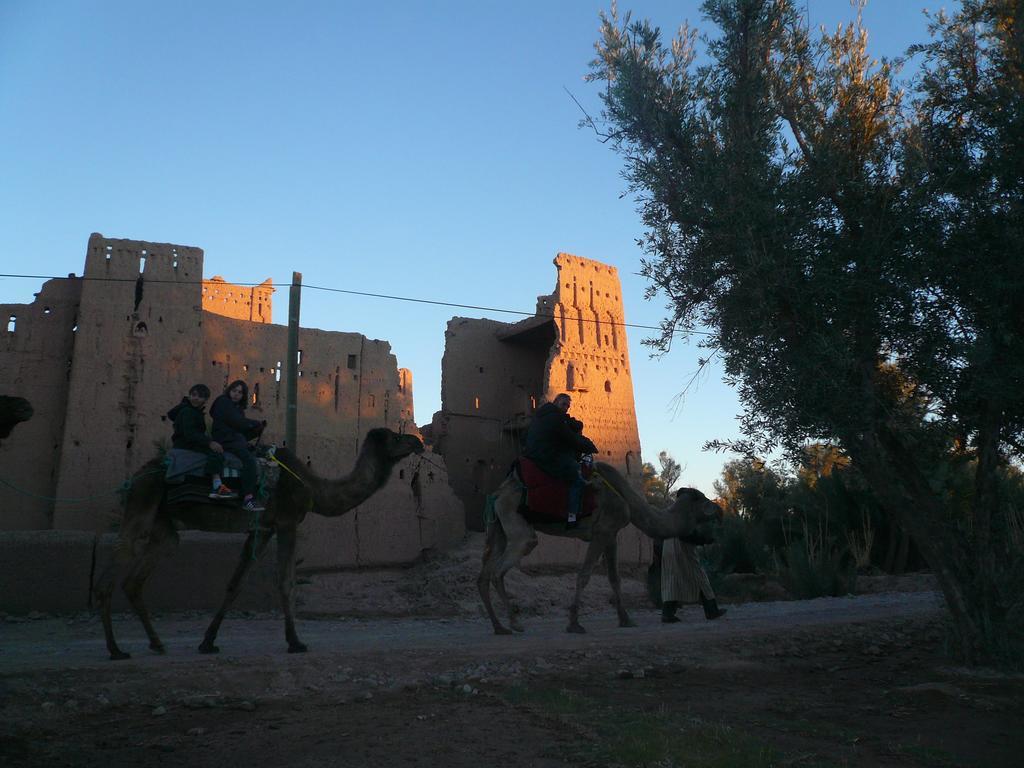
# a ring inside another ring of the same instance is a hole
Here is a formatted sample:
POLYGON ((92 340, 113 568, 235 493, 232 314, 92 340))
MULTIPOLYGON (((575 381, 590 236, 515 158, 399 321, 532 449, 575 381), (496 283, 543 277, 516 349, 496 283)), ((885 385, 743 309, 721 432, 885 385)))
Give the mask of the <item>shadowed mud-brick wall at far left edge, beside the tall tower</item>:
POLYGON ((0 445, 0 529, 53 523, 53 495, 82 281, 51 280, 31 304, 0 304, 0 394, 18 395, 35 413, 0 445))

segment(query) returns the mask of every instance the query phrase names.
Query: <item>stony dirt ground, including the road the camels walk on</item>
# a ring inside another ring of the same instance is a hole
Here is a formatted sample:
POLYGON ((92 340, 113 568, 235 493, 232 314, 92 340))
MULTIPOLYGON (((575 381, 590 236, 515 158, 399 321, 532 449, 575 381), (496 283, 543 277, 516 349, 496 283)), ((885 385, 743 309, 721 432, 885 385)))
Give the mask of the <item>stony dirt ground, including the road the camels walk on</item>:
POLYGON ((121 615, 133 657, 117 663, 91 614, 0 616, 0 765, 1021 764, 1024 678, 950 663, 927 577, 663 625, 633 573, 630 629, 597 577, 581 636, 564 632, 571 574, 516 572, 526 632, 497 637, 478 545, 305 577, 306 654, 285 652, 275 612, 229 616, 215 656, 195 650, 208 616, 159 616, 156 655, 121 615))

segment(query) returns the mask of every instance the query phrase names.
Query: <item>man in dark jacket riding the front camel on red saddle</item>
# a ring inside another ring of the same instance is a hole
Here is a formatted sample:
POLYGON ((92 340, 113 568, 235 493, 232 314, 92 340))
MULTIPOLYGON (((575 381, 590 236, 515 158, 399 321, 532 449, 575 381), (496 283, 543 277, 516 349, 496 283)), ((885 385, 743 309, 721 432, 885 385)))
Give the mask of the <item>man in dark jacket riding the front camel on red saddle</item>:
POLYGON ((526 446, 522 455, 543 472, 569 484, 568 522, 580 513, 580 502, 587 481, 580 474, 580 457, 596 454, 593 440, 584 435, 583 422, 568 415, 572 398, 562 392, 534 414, 526 430, 526 446))

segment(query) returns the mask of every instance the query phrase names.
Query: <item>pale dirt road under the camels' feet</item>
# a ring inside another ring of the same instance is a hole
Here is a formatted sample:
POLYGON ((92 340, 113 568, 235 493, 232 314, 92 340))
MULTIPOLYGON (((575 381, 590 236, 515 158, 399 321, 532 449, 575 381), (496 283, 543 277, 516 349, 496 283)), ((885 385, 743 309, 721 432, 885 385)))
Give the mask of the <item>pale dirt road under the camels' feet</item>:
MULTIPOLYGON (((695 606, 681 613, 678 627, 663 626, 651 610, 634 608, 639 627, 617 627, 614 611, 605 609, 583 617, 586 635, 564 631, 566 618, 552 612, 526 620, 522 635, 496 636, 483 618, 378 618, 299 622, 302 640, 312 653, 300 657, 332 663, 347 656, 422 652, 444 655, 519 656, 539 652, 580 651, 592 648, 628 648, 663 644, 700 646, 730 644, 754 634, 778 630, 810 629, 821 625, 871 622, 900 616, 934 615, 941 608, 934 592, 887 593, 816 600, 748 603, 730 606, 727 621, 700 621, 695 606)), ((170 614, 157 621, 168 648, 166 656, 147 649, 147 640, 131 614, 116 617, 115 632, 123 649, 133 658, 126 668, 161 668, 195 665, 205 657, 195 652, 208 616, 170 614)), ((225 621, 218 643, 232 663, 248 664, 285 648, 283 623, 275 613, 256 616, 236 614, 225 621)), ((35 618, 0 624, 0 674, 38 670, 69 670, 108 666, 101 628, 94 616, 35 618)))

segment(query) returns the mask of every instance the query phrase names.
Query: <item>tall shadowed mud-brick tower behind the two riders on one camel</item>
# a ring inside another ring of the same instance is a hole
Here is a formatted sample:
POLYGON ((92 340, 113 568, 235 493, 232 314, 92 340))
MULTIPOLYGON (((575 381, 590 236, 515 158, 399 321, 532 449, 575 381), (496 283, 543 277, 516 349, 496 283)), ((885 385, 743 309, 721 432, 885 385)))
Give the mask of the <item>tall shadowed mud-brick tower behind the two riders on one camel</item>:
POLYGON ((94 233, 84 276, 55 496, 94 501, 58 504, 53 527, 101 531, 201 370, 203 251, 94 233))

